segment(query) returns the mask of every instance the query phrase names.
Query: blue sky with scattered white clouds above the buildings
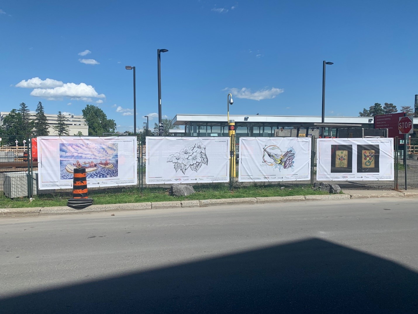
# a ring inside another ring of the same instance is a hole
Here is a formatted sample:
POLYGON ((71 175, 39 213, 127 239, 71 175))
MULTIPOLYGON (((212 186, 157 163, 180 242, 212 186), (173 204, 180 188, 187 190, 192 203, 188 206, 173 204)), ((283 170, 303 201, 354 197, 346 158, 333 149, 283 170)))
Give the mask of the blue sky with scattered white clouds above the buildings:
POLYGON ((118 131, 133 130, 125 65, 136 67, 140 127, 158 112, 158 48, 169 50, 161 55, 169 118, 226 114, 230 91, 232 114, 321 115, 323 60, 334 62, 326 115, 413 106, 416 12, 412 0, 3 1, 0 110, 42 101, 46 113, 81 114, 89 103, 118 131))

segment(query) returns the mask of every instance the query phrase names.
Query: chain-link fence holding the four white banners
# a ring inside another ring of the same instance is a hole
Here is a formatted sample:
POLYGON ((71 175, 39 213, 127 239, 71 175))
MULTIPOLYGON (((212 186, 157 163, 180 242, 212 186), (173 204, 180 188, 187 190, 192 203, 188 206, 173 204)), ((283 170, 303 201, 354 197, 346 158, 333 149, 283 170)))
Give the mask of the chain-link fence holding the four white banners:
MULTIPOLYGON (((168 193, 171 184, 146 184, 146 146, 145 139, 138 136, 138 183, 130 186, 115 186, 111 188, 89 188, 89 195, 98 193, 168 193)), ((418 188, 418 139, 394 139, 395 180, 376 181, 321 181, 335 183, 345 189, 405 189, 418 188), (405 177, 406 170, 406 177, 405 177), (405 180, 406 178, 406 180, 405 180), (406 184, 406 185, 405 185, 406 184)), ((275 182, 239 182, 239 149, 235 136, 231 137, 231 165, 229 182, 225 183, 188 183, 196 191, 234 190, 245 187, 295 187, 313 185, 316 180, 316 139, 312 138, 311 178, 298 181, 275 182), (236 149, 234 149, 236 148, 236 149), (234 158, 235 156, 235 158, 234 158), (234 166, 234 167, 233 167, 234 166)), ((38 198, 67 198, 72 196, 72 189, 38 189, 38 162, 32 155, 31 139, 16 146, 0 147, 0 195, 8 198, 22 198, 36 195, 38 198)))

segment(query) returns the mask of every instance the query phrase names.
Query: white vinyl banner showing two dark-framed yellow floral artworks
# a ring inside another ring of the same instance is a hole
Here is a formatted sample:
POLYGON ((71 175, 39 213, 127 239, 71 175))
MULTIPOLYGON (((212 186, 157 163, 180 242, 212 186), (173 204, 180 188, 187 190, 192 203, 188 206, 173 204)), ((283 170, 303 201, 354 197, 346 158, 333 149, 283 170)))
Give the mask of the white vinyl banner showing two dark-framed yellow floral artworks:
POLYGON ((394 180, 393 138, 318 139, 316 180, 394 180))

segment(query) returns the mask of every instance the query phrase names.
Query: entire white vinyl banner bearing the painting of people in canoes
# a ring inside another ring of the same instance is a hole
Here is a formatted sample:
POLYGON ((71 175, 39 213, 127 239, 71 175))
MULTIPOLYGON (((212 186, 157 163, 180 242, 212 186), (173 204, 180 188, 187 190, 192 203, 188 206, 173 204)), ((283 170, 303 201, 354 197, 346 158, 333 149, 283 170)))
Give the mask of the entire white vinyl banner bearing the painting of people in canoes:
POLYGON ((72 188, 78 167, 86 169, 88 188, 138 183, 134 136, 39 136, 37 140, 40 190, 72 188))

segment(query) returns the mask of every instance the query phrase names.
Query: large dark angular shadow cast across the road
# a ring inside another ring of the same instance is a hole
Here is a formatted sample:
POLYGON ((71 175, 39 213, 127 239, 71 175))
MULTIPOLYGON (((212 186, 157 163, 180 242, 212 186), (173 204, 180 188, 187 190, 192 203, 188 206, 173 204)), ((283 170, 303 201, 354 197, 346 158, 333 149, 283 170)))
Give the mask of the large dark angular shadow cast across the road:
POLYGON ((0 300, 0 313, 418 313, 418 274, 322 239, 0 300))

